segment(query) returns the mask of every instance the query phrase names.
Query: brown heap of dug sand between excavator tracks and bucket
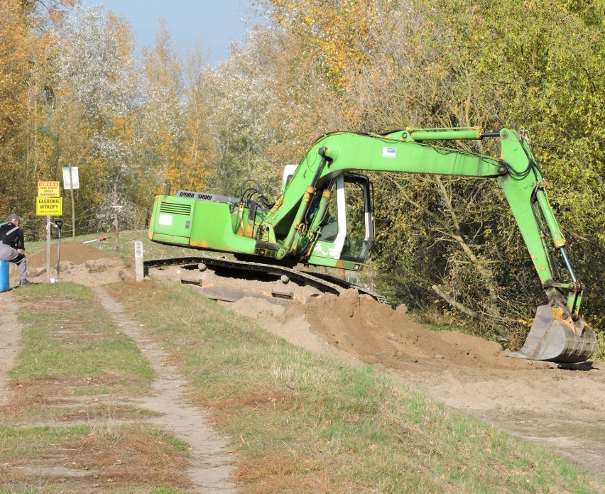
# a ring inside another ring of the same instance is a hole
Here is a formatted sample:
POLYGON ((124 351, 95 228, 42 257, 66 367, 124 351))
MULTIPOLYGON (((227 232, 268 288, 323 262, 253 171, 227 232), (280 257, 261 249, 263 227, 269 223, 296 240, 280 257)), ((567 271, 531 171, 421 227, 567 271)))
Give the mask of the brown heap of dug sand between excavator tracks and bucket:
MULTIPOLYGON (((351 353, 359 361, 398 370, 438 370, 445 366, 472 368, 527 368, 527 361, 508 358, 508 351, 459 331, 432 331, 413 322, 405 305, 392 309, 356 290, 342 295, 322 295, 307 304, 281 308, 261 305, 257 299, 242 299, 229 305, 236 312, 258 314, 263 326, 291 341, 293 332, 307 329, 321 344, 307 349, 325 352, 324 344, 351 353), (271 324, 271 319, 274 319, 271 324), (295 331, 293 331, 293 326, 295 331), (287 337, 285 335, 288 335, 287 337), (321 347, 321 348, 320 348, 321 347)), ((533 362, 534 368, 551 364, 533 362)))

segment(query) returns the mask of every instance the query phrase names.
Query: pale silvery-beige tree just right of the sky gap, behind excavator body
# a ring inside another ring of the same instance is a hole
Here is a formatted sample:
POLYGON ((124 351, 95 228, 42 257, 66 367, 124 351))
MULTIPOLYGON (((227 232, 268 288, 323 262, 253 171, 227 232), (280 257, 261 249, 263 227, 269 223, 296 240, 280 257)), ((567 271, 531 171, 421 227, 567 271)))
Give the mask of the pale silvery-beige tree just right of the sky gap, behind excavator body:
POLYGON ((276 90, 273 55, 279 46, 278 33, 257 32, 246 50, 234 46, 229 60, 208 70, 214 138, 210 183, 217 190, 236 195, 241 182, 254 177, 268 186, 266 192, 277 192, 273 146, 285 133, 289 113, 276 90))

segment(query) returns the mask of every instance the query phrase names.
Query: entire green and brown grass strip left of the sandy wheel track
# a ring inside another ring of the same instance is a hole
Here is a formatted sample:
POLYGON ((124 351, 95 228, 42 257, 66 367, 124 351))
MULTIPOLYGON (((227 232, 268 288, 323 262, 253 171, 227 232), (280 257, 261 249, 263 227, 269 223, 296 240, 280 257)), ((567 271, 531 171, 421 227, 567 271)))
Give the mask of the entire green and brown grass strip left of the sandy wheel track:
POLYGON ((148 412, 127 400, 112 402, 148 393, 153 370, 92 292, 61 283, 15 293, 22 351, 0 412, 0 493, 170 494, 186 486, 187 444, 143 427, 148 412))

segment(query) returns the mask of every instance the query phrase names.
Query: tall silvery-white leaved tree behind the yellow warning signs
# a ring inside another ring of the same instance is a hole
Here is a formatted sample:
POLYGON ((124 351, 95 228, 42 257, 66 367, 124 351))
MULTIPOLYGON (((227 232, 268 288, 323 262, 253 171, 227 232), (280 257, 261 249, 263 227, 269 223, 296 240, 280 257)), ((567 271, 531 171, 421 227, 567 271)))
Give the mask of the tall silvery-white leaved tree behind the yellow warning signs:
POLYGON ((58 180, 62 167, 79 165, 79 222, 109 225, 113 212, 99 206, 114 182, 122 188, 131 175, 131 122, 140 99, 129 26, 102 6, 78 4, 52 35, 46 109, 53 152, 46 168, 58 180))

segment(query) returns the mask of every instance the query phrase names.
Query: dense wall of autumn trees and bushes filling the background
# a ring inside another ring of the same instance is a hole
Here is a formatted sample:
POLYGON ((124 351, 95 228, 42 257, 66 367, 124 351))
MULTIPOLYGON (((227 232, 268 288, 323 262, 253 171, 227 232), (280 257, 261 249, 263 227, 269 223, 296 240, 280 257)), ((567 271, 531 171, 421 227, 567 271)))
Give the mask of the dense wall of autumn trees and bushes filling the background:
MULTIPOLYGON (((264 23, 216 67, 199 45, 178 53, 163 24, 137 54, 126 19, 52 5, 0 0, 1 212, 33 216, 36 180, 77 165, 77 228, 107 226, 114 183, 126 225, 143 228, 165 179, 236 195, 254 177, 276 194, 283 165, 327 131, 518 128, 549 180, 587 319, 603 326, 601 0, 258 0, 264 23)), ((439 285, 484 328, 522 331, 543 295, 497 185, 373 178, 374 271, 391 300, 447 309, 439 285)))

